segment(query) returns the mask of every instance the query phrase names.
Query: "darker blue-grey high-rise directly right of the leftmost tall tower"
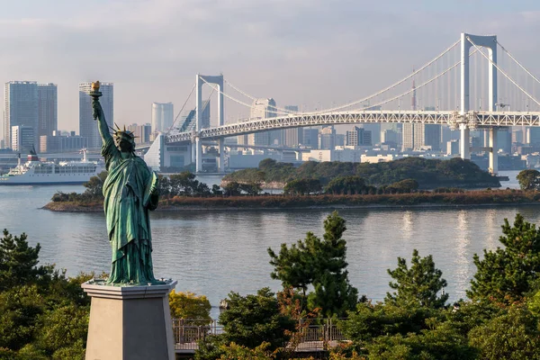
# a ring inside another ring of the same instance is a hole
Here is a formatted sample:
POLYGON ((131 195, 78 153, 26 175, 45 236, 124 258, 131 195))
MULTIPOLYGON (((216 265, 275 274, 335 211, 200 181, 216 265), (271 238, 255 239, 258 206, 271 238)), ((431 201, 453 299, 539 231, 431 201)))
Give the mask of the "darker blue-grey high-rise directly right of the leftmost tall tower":
POLYGON ((38 136, 58 130, 58 86, 38 84, 38 136))

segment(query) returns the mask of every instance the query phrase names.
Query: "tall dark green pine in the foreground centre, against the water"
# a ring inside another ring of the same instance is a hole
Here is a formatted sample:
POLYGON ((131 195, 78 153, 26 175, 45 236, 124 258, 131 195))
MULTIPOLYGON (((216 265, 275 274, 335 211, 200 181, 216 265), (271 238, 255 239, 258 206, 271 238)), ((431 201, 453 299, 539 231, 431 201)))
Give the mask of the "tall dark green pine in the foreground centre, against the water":
POLYGON ((358 291, 348 280, 347 241, 342 238, 347 229, 345 222, 334 211, 324 221, 322 240, 308 232, 303 241, 291 247, 282 244, 279 255, 268 248, 274 266, 271 277, 281 280, 284 287, 301 289, 304 296, 311 284, 309 308, 320 308, 326 316, 344 316, 358 302, 358 291))

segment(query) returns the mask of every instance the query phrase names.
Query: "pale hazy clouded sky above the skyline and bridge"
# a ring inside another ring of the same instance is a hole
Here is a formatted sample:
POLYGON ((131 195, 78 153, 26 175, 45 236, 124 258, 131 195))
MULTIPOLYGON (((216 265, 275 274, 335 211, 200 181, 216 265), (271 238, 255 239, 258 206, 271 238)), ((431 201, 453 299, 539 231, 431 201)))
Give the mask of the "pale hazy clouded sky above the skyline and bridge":
MULTIPOLYGON (((114 83, 119 124, 149 122, 152 102, 173 102, 178 112, 197 73, 221 73, 248 94, 310 110, 392 84, 437 56, 462 31, 498 35, 540 75, 537 0, 0 4, 0 82, 58 84, 61 130, 78 132, 79 82, 114 83)), ((226 103, 225 109, 227 121, 242 115, 234 104, 226 103)))

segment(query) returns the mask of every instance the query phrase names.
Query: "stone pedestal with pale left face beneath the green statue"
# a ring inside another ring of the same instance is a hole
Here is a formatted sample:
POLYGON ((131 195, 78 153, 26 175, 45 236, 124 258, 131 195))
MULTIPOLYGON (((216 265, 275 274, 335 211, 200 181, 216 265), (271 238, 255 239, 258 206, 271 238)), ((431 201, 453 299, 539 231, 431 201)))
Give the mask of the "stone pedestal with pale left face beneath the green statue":
POLYGON ((92 297, 86 360, 174 360, 175 344, 168 293, 164 285, 82 284, 92 297))

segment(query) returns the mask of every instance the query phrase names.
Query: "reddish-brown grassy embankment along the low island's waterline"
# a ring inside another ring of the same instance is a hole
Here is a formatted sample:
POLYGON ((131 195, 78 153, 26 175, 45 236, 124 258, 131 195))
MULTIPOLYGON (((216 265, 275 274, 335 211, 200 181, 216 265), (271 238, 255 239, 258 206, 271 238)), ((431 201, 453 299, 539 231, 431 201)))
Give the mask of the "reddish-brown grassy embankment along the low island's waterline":
MULTIPOLYGON (((367 195, 257 195, 257 196, 173 196, 161 199, 158 211, 208 209, 302 209, 421 206, 487 206, 540 204, 540 192, 520 190, 478 190, 464 193, 394 193, 367 195)), ((103 211, 103 201, 49 202, 51 211, 103 211)))

